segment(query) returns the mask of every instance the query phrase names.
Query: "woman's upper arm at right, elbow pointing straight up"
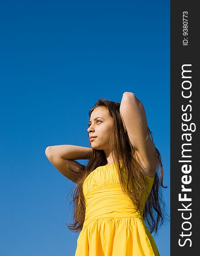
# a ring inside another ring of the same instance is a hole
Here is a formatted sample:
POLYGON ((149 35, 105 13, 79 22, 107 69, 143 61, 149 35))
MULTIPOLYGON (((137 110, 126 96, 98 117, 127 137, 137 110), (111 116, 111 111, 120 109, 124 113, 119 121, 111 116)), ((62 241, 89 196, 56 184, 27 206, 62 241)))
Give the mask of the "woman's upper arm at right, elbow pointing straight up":
POLYGON ((149 137, 145 109, 134 93, 123 93, 120 115, 131 145, 137 152, 140 162, 143 163, 145 174, 152 177, 157 166, 156 149, 149 137))

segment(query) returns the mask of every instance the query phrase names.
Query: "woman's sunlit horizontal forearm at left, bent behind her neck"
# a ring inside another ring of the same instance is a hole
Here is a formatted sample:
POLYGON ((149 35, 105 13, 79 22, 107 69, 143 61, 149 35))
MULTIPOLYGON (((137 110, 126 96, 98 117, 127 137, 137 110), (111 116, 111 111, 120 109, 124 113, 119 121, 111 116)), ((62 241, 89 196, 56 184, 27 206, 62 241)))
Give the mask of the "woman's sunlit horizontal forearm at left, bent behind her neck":
POLYGON ((55 145, 46 148, 45 154, 49 157, 62 157, 65 159, 78 160, 89 159, 92 148, 76 145, 55 145))

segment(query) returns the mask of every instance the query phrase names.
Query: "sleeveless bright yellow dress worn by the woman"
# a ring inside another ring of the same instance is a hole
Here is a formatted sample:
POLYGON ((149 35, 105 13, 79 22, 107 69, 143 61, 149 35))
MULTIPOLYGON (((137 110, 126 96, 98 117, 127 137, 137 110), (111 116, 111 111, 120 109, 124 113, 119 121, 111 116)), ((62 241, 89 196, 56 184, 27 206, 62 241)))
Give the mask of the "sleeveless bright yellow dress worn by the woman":
MULTIPOLYGON (((120 162, 122 166, 122 163, 120 162)), ((146 176, 148 195, 154 177, 146 176)), ((116 165, 99 166, 83 183, 86 215, 75 256, 160 256, 143 216, 120 186, 116 165)))

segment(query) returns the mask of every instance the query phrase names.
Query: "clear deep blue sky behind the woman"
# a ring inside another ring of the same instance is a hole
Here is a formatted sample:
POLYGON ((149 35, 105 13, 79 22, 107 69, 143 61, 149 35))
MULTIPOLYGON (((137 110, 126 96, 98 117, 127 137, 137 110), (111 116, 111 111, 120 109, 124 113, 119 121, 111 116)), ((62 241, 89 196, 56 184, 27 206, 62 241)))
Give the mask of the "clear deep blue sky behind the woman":
MULTIPOLYGON (((170 206, 170 1, 1 1, 1 253, 73 256, 74 183, 49 145, 90 146, 97 99, 135 93, 160 151, 170 206)), ((79 160, 85 163, 85 160, 79 160)), ((170 255, 169 223, 155 236, 170 255)))

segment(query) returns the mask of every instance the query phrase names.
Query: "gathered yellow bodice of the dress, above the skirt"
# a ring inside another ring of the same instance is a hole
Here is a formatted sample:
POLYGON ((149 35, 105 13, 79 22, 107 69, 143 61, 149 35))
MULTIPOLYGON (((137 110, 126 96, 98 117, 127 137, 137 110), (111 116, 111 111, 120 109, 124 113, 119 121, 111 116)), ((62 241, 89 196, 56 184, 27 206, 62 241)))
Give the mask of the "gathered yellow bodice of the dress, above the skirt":
MULTIPOLYGON (((120 163, 122 167, 122 163, 120 163)), ((154 178, 149 180, 148 194, 151 192, 154 178)), ((99 166, 91 172, 83 183, 86 200, 86 216, 84 225, 97 218, 106 217, 140 217, 131 198, 126 195, 120 185, 115 164, 99 166)), ((143 207, 147 196, 143 197, 143 207)), ((144 194, 145 195, 145 194, 144 194)))

